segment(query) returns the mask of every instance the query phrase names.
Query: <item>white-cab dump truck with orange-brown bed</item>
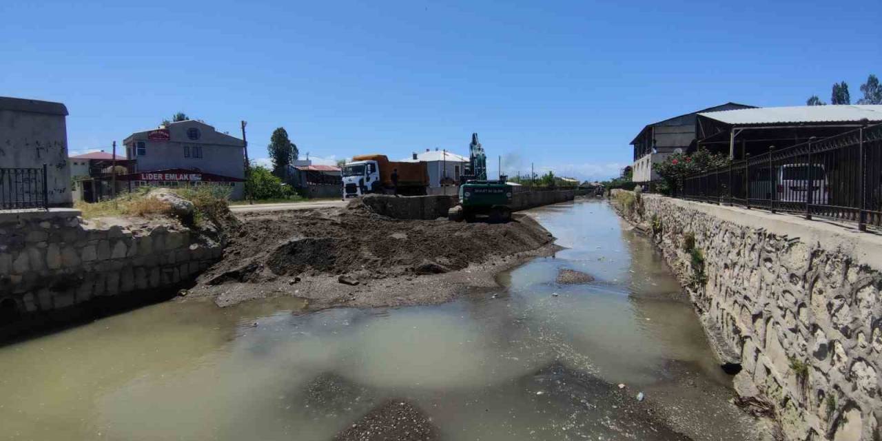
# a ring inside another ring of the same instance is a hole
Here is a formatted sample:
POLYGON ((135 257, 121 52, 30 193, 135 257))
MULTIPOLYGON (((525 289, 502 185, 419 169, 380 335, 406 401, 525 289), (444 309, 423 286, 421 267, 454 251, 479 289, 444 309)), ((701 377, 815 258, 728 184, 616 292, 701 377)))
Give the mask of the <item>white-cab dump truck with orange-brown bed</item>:
POLYGON ((354 156, 343 166, 343 199, 368 193, 421 196, 429 187, 425 162, 389 161, 385 154, 354 156), (398 174, 398 184, 392 174, 398 174))

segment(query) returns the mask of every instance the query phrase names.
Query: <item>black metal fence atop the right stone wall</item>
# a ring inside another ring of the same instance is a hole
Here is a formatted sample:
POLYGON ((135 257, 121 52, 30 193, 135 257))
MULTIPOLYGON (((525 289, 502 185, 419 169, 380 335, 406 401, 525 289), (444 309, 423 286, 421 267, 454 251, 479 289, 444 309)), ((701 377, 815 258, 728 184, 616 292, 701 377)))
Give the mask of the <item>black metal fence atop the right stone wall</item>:
POLYGON ((676 196, 882 227, 882 124, 684 178, 676 196))

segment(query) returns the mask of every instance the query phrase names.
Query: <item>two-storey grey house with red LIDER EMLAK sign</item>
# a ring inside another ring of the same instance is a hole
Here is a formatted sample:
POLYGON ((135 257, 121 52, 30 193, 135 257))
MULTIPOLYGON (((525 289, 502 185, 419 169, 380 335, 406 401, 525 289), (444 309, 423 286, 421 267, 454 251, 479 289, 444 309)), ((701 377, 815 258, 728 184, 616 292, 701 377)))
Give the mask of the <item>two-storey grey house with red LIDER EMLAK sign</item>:
POLYGON ((142 185, 224 185, 231 198, 244 196, 245 145, 201 121, 169 123, 136 131, 123 140, 134 170, 118 180, 142 185))

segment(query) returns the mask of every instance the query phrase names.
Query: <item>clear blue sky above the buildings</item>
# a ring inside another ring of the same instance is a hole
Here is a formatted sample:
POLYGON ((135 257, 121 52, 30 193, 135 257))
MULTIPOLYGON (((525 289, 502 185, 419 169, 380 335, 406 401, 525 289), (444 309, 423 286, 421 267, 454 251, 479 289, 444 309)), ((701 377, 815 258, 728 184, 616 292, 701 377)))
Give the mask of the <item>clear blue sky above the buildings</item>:
POLYGON ((64 102, 72 153, 183 110, 247 120, 251 158, 279 126, 326 161, 476 131, 506 171, 598 178, 646 123, 882 75, 882 2, 129 3, 0 3, 0 95, 64 102))

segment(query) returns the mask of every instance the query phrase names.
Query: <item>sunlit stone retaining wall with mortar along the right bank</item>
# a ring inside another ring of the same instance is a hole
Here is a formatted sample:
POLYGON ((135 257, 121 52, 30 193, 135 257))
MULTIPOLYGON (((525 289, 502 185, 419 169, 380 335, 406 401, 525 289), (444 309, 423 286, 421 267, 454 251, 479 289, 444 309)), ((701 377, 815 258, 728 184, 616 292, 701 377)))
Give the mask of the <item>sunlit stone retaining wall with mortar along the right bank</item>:
POLYGON ((882 237, 655 195, 623 205, 740 361, 736 391, 770 405, 787 439, 882 439, 882 237))

